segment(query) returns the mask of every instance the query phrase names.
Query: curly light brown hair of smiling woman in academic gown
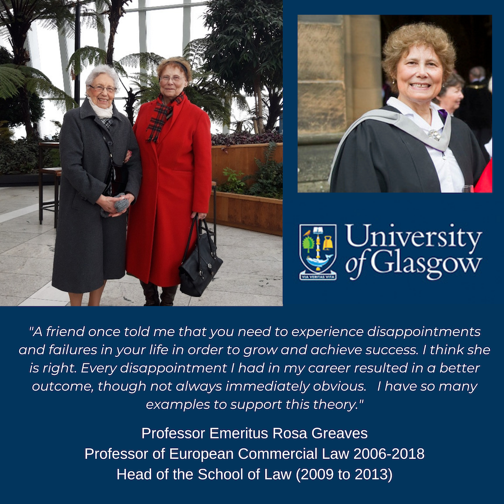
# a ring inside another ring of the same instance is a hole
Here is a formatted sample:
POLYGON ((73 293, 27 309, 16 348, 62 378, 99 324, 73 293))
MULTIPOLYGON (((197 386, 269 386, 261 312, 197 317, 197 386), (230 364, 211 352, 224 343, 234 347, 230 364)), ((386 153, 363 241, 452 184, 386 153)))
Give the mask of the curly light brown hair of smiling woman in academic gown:
POLYGON ((443 82, 446 82, 453 72, 456 58, 455 47, 443 28, 427 23, 401 26, 389 35, 383 46, 382 67, 387 77, 393 81, 392 90, 395 92, 397 92, 395 79, 399 61, 411 47, 416 45, 430 47, 436 53, 443 67, 443 82))

